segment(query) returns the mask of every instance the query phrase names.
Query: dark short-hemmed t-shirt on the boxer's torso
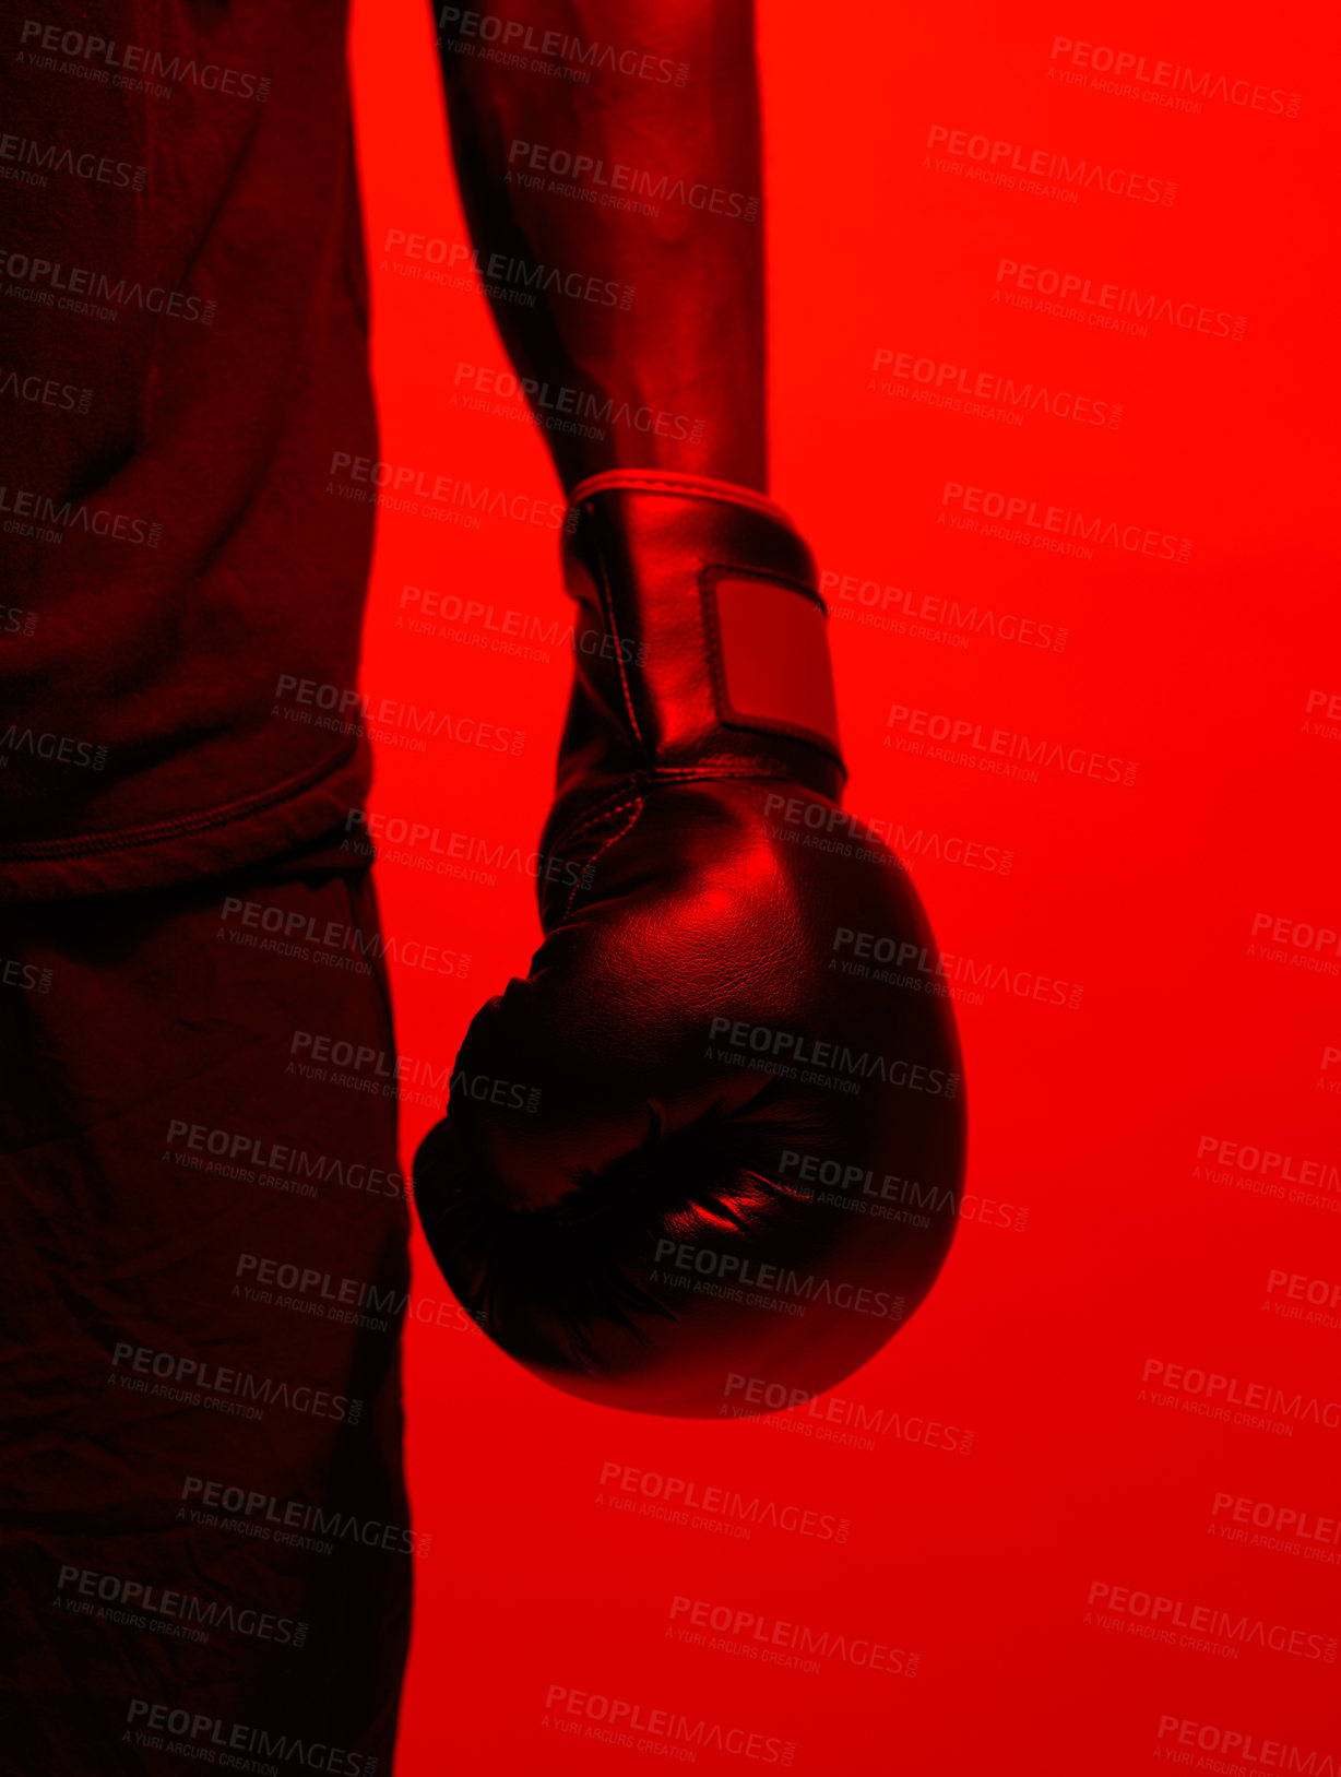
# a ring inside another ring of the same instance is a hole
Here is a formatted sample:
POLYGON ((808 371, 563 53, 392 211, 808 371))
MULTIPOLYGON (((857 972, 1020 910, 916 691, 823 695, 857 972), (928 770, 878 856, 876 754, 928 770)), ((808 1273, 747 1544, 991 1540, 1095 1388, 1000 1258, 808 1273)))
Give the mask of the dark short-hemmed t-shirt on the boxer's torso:
POLYGON ((346 7, 4 18, 0 894, 165 885, 368 789, 346 7))

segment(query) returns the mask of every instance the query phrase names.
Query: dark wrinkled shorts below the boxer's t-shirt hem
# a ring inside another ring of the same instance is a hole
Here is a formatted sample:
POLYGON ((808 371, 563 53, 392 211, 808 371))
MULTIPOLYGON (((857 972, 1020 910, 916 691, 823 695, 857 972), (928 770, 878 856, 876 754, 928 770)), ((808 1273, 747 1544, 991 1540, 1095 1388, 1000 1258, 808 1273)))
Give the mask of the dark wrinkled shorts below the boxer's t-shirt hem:
POLYGON ((5 1768, 389 1777, 419 1551, 369 874, 0 935, 5 1768))

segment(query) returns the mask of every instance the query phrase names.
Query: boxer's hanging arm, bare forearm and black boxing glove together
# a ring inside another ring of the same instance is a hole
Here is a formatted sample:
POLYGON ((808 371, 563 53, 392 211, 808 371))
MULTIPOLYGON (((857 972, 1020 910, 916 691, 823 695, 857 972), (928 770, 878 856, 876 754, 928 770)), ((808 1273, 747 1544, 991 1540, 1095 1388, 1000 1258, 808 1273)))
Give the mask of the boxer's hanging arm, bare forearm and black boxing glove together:
POLYGON ((458 12, 444 46, 485 284, 512 283, 490 252, 526 254, 545 281, 634 295, 496 302, 519 373, 551 386, 542 423, 561 389, 584 398, 579 421, 611 412, 600 437, 545 432, 575 490, 545 938, 453 1070, 526 1088, 508 1105, 453 1089, 416 1199, 458 1301, 533 1374, 718 1418, 734 1377, 794 1398, 837 1386, 931 1288, 954 1210, 874 1221, 842 1192, 916 1176, 957 1203, 959 1050, 947 1000, 838 967, 863 933, 934 954, 908 873, 874 835, 792 842, 849 817, 813 562, 750 492, 766 476, 750 0, 499 5, 492 43, 458 12), (590 55, 590 84, 469 53, 529 64, 547 30, 577 39, 568 66, 590 55), (607 52, 632 57, 609 71, 607 52), (643 78, 639 52, 687 64, 684 85, 643 78), (780 1278, 815 1299, 769 1295, 780 1278))

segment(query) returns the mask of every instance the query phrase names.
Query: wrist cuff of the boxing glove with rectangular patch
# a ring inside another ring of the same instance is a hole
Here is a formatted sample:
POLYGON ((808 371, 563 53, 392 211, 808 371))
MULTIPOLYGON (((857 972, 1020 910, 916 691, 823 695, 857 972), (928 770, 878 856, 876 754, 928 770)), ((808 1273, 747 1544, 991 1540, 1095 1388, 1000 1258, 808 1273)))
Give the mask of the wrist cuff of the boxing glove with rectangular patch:
POLYGON ((631 773, 789 777, 837 800, 828 613, 780 506, 730 482, 615 469, 574 489, 563 556, 579 604, 567 766, 607 780, 616 752, 631 773))

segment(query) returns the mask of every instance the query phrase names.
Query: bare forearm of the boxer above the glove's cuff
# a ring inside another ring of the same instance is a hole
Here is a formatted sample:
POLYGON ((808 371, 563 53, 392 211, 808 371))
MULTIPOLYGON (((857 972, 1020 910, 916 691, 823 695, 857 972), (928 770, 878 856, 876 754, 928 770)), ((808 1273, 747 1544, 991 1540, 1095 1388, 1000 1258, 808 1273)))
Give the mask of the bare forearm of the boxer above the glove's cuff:
POLYGON ((524 288, 488 275, 492 254, 540 274, 535 306, 492 309, 517 375, 549 386, 531 405, 565 490, 625 467, 764 489, 751 0, 508 0, 435 21, 483 283, 524 288))

